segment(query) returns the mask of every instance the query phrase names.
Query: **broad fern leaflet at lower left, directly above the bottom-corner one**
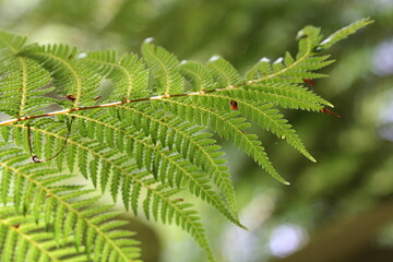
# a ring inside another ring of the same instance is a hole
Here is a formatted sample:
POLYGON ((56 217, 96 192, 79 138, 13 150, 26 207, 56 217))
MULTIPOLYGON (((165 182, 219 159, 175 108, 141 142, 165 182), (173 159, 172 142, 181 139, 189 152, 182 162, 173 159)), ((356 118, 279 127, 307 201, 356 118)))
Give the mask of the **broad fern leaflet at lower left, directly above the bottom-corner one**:
POLYGON ((133 234, 124 230, 118 234, 120 224, 114 221, 117 213, 109 212, 108 205, 95 206, 97 198, 86 198, 91 190, 57 186, 70 176, 58 176, 57 170, 33 163, 21 163, 27 156, 20 150, 3 150, 0 158, 3 204, 13 195, 15 211, 23 206, 23 214, 32 214, 36 222, 44 222, 47 228, 50 226, 57 245, 68 243, 72 236, 75 246, 85 246, 85 252, 88 257, 92 254, 95 261, 109 261, 108 258, 129 261, 139 257, 139 249, 134 247, 136 242, 130 239, 133 234), (109 252, 93 252, 99 247, 109 252))

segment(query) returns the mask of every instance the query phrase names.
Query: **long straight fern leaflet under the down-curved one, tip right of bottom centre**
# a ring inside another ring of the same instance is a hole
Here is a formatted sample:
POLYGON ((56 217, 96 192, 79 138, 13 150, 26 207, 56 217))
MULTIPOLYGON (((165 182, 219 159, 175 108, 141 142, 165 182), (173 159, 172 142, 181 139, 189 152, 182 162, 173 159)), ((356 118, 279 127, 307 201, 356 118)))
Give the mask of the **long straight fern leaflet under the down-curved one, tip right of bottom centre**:
MULTIPOLYGON (((144 135, 144 132, 141 132, 129 124, 118 122, 117 119, 111 118, 109 115, 93 112, 90 116, 71 116, 85 119, 87 122, 94 123, 97 130, 96 132, 92 131, 90 135, 91 139, 96 138, 100 143, 105 143, 105 139, 106 141, 115 141, 115 139, 110 135, 116 133, 116 135, 120 138, 117 138, 117 144, 127 144, 124 152, 129 156, 135 157, 135 162, 140 168, 145 167, 163 183, 168 181, 171 187, 175 184, 177 187, 181 187, 181 184, 189 184, 191 193, 207 203, 211 203, 229 221, 241 226, 237 218, 225 209, 226 204, 221 196, 212 190, 210 179, 206 174, 202 172, 202 170, 192 165, 189 160, 184 159, 180 154, 174 152, 172 150, 163 147, 159 143, 153 143, 151 138, 146 138, 144 135), (127 142, 124 142, 124 140, 127 142)), ((73 141, 72 138, 71 141, 73 141)), ((115 143, 108 143, 108 145, 112 148, 117 147, 115 143)), ((70 147, 72 146, 69 146, 69 148, 70 147)), ((114 153, 114 155, 116 153, 114 153)), ((68 157, 72 159, 72 156, 68 157)), ((108 158, 108 156, 105 157, 108 158)), ((73 163, 73 160, 70 162, 73 163)), ((115 165, 119 164, 115 163, 115 165)), ((108 169, 108 174, 110 174, 110 168, 108 169)), ((223 176, 227 177, 227 175, 223 176)), ((225 181, 224 178, 216 179, 219 183, 223 183, 222 188, 225 190, 223 193, 226 193, 226 199, 230 200, 234 198, 233 188, 229 186, 230 181, 225 181)), ((106 179, 104 181, 106 181, 106 179)), ((102 186, 103 184, 106 186, 106 182, 102 182, 102 186)))

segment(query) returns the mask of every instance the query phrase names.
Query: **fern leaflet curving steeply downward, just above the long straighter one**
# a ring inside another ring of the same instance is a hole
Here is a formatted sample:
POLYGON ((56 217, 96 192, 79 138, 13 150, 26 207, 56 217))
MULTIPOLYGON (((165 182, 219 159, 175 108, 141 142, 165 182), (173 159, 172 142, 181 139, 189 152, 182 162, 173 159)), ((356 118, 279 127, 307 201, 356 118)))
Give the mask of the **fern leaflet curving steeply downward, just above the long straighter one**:
POLYGON ((163 146, 175 150, 182 154, 183 158, 202 167, 222 190, 223 196, 228 201, 234 214, 237 214, 235 189, 221 158, 223 153, 211 134, 201 132, 204 128, 183 122, 174 115, 167 115, 165 110, 153 107, 150 104, 135 106, 118 106, 119 112, 128 111, 127 121, 143 129, 146 135, 152 135, 153 141, 159 141, 163 146), (155 132, 152 132, 152 131, 155 132))

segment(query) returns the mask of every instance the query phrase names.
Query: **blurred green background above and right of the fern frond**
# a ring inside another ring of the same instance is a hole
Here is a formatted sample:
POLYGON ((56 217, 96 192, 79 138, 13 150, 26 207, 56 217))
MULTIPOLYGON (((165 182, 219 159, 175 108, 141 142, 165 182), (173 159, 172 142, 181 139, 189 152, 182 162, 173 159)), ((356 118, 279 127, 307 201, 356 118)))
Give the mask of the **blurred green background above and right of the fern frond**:
MULTIPOLYGON (((153 36, 179 59, 222 55, 241 72, 295 53, 305 25, 326 36, 367 16, 376 23, 334 46, 331 76, 315 81, 342 118, 285 111, 317 164, 260 132, 286 187, 223 142, 249 231, 195 204, 218 261, 229 262, 393 261, 393 1, 0 0, 0 28, 31 41, 139 52, 153 36)), ((177 227, 129 218, 146 261, 205 260, 177 227)))

